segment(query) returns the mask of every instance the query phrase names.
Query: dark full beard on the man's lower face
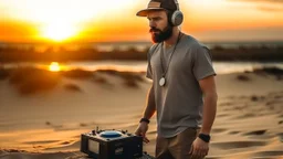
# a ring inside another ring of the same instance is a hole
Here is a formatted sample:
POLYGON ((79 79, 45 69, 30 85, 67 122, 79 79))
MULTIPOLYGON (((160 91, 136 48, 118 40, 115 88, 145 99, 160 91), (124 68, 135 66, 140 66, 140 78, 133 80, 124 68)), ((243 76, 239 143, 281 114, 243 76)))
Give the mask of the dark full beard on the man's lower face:
POLYGON ((172 26, 168 24, 164 29, 164 31, 156 29, 156 28, 151 28, 149 32, 151 33, 151 41, 154 43, 160 43, 160 42, 164 42, 164 41, 168 40, 169 38, 171 38, 172 26), (153 31, 159 31, 159 33, 154 33, 153 31))

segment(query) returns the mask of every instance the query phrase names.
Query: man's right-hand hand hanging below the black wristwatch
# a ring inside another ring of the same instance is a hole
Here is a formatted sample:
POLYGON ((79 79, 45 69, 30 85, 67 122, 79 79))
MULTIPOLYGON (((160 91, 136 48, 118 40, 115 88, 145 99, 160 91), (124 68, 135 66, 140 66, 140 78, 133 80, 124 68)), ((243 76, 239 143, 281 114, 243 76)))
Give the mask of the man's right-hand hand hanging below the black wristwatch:
POLYGON ((205 142, 200 138, 196 138, 191 145, 190 155, 195 159, 202 159, 208 155, 209 144, 205 142))

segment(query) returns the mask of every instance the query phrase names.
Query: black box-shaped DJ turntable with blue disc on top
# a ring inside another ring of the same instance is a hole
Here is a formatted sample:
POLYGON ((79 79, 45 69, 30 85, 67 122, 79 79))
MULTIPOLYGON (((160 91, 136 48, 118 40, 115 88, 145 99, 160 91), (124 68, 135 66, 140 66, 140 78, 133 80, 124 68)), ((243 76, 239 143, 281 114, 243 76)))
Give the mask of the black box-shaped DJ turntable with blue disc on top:
POLYGON ((81 135, 81 151, 94 159, 142 159, 143 137, 127 130, 97 128, 81 135))

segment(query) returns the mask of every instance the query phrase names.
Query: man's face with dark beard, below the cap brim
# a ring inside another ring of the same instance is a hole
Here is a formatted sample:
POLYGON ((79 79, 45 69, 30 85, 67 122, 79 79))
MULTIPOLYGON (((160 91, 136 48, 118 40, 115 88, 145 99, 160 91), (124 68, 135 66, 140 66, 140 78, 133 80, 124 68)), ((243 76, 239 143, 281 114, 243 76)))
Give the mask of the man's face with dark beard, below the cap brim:
POLYGON ((154 43, 163 42, 172 35, 172 26, 168 24, 166 11, 151 11, 148 13, 147 19, 154 43))

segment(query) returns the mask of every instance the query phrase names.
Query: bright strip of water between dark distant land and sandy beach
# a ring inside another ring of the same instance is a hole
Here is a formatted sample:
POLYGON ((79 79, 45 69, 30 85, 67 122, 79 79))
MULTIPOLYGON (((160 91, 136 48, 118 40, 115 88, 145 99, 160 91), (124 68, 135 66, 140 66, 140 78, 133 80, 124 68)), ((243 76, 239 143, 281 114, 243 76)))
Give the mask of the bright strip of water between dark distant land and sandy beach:
MULTIPOLYGON (((147 68, 147 61, 84 61, 84 62, 66 62, 57 63, 61 70, 81 68, 86 71, 95 70, 118 70, 118 71, 134 71, 145 72, 147 68)), ((49 68, 51 63, 6 63, 3 67, 11 68, 18 66, 35 66, 49 68)), ((279 67, 283 70, 283 62, 213 62, 213 67, 217 74, 229 74, 235 72, 252 71, 261 67, 279 67)))

